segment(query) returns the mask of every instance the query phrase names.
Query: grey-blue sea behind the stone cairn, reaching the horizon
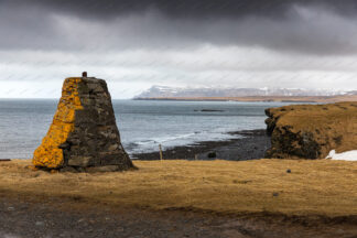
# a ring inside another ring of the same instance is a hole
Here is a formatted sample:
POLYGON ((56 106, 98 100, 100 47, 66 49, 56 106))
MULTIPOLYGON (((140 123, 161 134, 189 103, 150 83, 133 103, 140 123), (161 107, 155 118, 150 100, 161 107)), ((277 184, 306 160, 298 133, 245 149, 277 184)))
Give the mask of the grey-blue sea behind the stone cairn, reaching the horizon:
MULTIPOLYGON (((46 134, 58 100, 0 99, 0 159, 31 159, 46 134)), ((237 138, 227 132, 266 128, 264 109, 284 102, 112 100, 129 154, 201 141, 237 138)))

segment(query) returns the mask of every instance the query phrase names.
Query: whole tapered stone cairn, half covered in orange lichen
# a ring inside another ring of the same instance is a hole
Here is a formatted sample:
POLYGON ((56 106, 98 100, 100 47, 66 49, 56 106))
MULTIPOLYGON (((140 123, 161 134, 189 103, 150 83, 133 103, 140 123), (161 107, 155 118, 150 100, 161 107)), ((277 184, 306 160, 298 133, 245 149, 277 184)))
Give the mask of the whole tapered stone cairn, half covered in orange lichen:
POLYGON ((32 162, 40 169, 73 172, 134 167, 120 143, 105 80, 86 72, 65 79, 57 111, 32 162))

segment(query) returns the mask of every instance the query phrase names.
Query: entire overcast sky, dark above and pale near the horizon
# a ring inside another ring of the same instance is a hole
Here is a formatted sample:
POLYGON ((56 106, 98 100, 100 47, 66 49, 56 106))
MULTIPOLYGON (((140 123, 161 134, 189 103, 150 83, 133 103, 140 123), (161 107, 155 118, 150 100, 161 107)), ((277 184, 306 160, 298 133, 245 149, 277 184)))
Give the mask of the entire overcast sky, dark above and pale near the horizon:
POLYGON ((357 89, 357 0, 0 0, 0 97, 152 85, 357 89))

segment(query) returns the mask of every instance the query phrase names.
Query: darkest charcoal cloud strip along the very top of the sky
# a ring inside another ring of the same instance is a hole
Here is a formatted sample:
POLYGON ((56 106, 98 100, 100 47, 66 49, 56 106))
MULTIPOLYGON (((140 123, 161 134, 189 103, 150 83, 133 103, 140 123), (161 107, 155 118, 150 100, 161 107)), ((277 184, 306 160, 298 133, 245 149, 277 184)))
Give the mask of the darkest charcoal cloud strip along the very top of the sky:
POLYGON ((110 19, 156 9, 167 18, 281 18, 292 4, 325 6, 348 14, 356 12, 356 0, 2 0, 12 6, 37 6, 82 17, 110 19))

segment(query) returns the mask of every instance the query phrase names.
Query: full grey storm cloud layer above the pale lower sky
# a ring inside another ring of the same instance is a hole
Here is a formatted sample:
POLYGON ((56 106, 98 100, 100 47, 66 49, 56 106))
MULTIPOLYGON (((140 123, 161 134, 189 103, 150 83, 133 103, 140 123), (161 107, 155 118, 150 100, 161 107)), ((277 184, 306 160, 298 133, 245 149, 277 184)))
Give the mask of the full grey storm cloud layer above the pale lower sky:
POLYGON ((0 0, 6 35, 0 47, 122 50, 210 43, 355 54, 356 6, 356 0, 0 0))

